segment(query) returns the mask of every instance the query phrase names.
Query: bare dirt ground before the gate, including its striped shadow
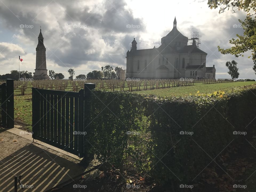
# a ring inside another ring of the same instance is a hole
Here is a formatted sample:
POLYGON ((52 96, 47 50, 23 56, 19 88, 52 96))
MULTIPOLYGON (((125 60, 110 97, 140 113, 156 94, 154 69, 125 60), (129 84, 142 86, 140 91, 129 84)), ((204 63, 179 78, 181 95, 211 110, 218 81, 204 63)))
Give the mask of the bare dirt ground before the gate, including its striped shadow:
POLYGON ((45 191, 88 167, 78 159, 0 129, 0 191, 14 191, 14 175, 23 175, 18 191, 45 191))

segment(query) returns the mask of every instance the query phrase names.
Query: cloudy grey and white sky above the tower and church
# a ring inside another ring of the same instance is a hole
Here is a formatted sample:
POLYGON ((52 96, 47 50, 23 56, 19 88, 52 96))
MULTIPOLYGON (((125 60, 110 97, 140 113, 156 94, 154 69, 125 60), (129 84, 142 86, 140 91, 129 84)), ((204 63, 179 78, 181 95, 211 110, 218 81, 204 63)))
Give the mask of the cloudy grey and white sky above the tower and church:
POLYGON ((253 62, 245 57, 222 55, 217 46, 242 34, 238 19, 245 13, 210 10, 207 0, 0 0, 0 74, 18 70, 34 72, 35 48, 40 26, 46 47, 48 70, 63 73, 73 68, 75 75, 101 70, 101 66, 126 69, 126 52, 133 38, 138 49, 161 45, 161 38, 173 28, 185 36, 198 31, 201 49, 208 53, 207 66, 215 65, 216 78, 230 77, 226 61, 238 62, 240 78, 255 79, 253 62), (127 25, 137 26, 127 28, 127 25))

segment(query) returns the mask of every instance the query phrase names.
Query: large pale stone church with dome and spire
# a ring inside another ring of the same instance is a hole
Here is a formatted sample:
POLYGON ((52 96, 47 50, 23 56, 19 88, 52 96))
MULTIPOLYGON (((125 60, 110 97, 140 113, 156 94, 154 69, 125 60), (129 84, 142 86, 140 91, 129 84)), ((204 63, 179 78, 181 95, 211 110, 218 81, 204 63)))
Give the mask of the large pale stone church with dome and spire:
POLYGON ((215 67, 206 67, 207 53, 200 50, 195 39, 188 45, 188 37, 177 29, 176 17, 173 29, 161 39, 161 46, 137 50, 135 38, 127 51, 126 73, 129 78, 215 78, 215 67))

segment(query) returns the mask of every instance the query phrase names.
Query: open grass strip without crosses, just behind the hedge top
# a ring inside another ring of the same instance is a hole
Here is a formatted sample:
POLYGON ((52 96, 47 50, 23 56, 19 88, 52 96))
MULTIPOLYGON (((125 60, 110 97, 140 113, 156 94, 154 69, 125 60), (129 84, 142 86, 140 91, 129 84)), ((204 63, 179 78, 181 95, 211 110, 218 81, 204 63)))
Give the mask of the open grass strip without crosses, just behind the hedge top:
POLYGON ((146 91, 134 91, 134 93, 139 94, 153 94, 160 97, 185 97, 189 94, 196 94, 197 91, 200 93, 213 93, 214 91, 225 91, 227 89, 233 87, 239 87, 244 85, 252 85, 256 83, 255 81, 241 81, 241 82, 232 82, 232 83, 214 83, 214 84, 202 84, 202 83, 194 83, 193 86, 185 86, 185 87, 171 87, 167 89, 154 89, 154 90, 146 90, 146 91))

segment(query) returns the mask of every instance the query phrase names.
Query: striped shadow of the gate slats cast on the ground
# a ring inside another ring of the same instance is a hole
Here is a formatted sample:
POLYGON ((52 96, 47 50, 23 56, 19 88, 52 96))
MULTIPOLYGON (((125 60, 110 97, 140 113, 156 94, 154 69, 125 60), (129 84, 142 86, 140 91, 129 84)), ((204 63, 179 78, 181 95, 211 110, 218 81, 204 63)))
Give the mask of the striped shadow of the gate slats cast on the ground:
POLYGON ((14 191, 15 175, 23 175, 21 183, 24 188, 22 190, 18 183, 18 191, 45 191, 83 173, 85 169, 31 143, 0 162, 0 191, 14 191))

